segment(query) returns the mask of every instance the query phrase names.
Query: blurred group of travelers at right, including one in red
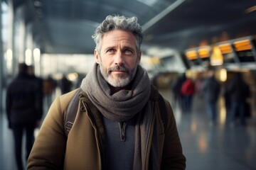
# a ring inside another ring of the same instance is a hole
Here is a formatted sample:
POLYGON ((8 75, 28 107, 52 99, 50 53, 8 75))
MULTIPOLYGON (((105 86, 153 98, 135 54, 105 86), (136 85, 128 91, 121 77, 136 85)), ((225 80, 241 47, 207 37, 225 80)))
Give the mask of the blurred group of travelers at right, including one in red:
POLYGON ((193 100, 203 103, 208 115, 209 125, 218 123, 220 105, 218 101, 224 98, 227 123, 230 127, 246 125, 250 118, 250 86, 240 72, 232 72, 230 79, 223 83, 216 78, 215 70, 210 69, 199 74, 196 79, 181 74, 171 84, 171 94, 174 96, 174 107, 181 108, 182 113, 191 113, 193 100))

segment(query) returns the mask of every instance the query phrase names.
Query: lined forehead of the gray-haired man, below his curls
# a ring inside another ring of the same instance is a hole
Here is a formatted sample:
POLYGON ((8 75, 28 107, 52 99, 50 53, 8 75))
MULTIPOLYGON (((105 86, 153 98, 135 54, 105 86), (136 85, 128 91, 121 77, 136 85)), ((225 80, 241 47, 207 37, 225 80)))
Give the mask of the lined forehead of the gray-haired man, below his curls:
POLYGON ((136 37, 130 31, 111 30, 102 36, 102 47, 118 45, 131 45, 136 47, 136 37))

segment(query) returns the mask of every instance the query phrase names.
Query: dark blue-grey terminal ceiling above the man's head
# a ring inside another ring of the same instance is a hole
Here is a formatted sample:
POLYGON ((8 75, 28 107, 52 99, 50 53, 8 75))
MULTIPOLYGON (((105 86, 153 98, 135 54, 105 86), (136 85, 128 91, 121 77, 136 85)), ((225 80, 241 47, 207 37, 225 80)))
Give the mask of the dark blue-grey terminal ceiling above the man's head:
POLYGON ((13 0, 26 6, 26 23, 42 53, 92 54, 92 34, 107 15, 137 16, 144 29, 142 50, 183 52, 256 35, 255 0, 13 0))

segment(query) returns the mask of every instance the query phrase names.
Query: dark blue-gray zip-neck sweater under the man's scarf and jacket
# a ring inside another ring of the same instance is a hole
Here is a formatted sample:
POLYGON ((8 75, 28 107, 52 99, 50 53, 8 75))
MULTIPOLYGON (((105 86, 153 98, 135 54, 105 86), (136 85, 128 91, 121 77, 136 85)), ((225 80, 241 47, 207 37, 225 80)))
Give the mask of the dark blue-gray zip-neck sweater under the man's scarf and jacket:
POLYGON ((133 169, 134 159, 134 118, 118 123, 103 117, 107 142, 105 145, 106 169, 133 169))

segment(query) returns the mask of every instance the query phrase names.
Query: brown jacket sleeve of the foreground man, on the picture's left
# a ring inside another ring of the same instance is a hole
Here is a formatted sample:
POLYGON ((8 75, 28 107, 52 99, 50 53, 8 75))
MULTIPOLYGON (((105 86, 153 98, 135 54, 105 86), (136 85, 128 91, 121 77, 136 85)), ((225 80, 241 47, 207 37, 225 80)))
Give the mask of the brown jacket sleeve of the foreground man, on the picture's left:
POLYGON ((53 101, 28 157, 27 169, 63 169, 65 131, 60 98, 53 101))

